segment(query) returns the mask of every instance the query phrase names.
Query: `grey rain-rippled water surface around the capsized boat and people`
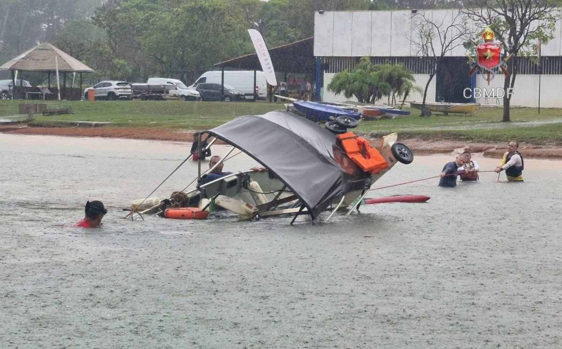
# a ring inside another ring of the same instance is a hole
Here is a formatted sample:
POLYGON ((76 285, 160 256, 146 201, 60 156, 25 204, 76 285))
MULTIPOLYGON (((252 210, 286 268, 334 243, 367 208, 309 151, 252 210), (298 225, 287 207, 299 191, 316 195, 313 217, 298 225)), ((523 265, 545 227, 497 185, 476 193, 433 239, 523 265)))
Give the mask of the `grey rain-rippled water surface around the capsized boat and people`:
MULTIPOLYGON (((455 189, 373 191, 431 199, 329 223, 123 219, 190 147, 0 134, 2 347, 562 345, 561 162, 525 160, 524 183, 482 173, 455 189), (108 206, 103 227, 72 227, 88 199, 108 206)), ((417 157, 374 187, 450 160, 417 157)), ((225 171, 253 165, 237 157, 225 171)), ((186 163, 154 195, 196 173, 186 163)))

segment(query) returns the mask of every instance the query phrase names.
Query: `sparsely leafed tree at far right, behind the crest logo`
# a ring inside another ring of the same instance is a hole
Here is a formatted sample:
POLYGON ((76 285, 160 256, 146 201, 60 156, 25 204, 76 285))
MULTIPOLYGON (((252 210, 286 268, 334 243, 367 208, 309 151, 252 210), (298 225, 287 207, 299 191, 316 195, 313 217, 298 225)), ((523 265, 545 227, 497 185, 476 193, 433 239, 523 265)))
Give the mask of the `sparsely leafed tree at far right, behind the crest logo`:
POLYGON ((496 38, 505 43, 511 59, 507 61, 508 75, 504 77, 504 116, 510 121, 511 93, 518 73, 518 56, 536 54, 536 40, 547 43, 552 38, 559 19, 560 0, 469 0, 463 13, 482 26, 490 26, 496 38))

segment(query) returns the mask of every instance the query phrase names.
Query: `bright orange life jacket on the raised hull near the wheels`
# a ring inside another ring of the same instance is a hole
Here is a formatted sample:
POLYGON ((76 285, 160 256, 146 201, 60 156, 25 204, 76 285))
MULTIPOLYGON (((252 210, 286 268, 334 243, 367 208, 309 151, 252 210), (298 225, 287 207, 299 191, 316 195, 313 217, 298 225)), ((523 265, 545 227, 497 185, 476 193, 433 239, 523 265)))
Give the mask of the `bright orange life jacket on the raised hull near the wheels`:
POLYGON ((345 134, 338 135, 338 139, 341 141, 342 148, 346 151, 347 156, 362 171, 375 174, 388 168, 388 163, 380 155, 379 151, 371 148, 369 141, 363 137, 359 137, 353 132, 346 132, 345 134))

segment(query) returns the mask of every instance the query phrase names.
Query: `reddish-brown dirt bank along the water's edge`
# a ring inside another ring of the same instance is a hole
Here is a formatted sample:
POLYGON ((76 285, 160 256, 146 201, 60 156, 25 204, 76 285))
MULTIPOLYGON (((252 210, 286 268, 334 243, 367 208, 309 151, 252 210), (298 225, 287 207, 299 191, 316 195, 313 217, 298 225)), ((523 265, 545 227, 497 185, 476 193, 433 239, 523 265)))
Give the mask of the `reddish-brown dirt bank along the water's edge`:
MULTIPOLYGON (((157 130, 136 127, 28 127, 10 125, 0 127, 0 132, 23 135, 56 135, 76 137, 108 137, 127 139, 146 139, 191 142, 190 131, 157 130)), ((504 143, 477 143, 455 140, 401 139, 416 154, 448 154, 454 151, 469 150, 482 153, 486 157, 500 158, 507 150, 504 143)), ((378 141, 373 142, 374 145, 378 141)), ((519 150, 527 158, 562 159, 562 147, 549 145, 520 144, 519 150)))

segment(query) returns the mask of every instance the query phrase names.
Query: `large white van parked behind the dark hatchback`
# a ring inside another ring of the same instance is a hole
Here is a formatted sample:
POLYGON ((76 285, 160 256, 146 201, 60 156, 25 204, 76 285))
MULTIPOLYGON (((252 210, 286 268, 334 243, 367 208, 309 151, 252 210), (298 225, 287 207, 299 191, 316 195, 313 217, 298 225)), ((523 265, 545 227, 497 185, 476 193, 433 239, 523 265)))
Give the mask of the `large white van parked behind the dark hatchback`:
MULTIPOLYGON (((212 70, 203 73, 190 88, 195 88, 197 84, 206 82, 207 84, 220 84, 221 71, 212 70)), ((246 99, 253 99, 253 70, 225 70, 224 83, 233 86, 234 89, 241 91, 246 99)), ((265 99, 268 97, 268 85, 265 80, 265 74, 262 71, 256 71, 257 97, 265 99)))

